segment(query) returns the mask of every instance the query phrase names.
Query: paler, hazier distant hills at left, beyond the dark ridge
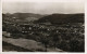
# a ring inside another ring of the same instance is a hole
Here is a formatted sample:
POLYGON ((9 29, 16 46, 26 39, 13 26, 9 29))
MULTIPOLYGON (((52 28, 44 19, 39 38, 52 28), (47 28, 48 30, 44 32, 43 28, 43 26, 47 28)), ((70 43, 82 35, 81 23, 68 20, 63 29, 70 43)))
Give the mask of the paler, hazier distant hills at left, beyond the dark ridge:
POLYGON ((13 13, 13 14, 2 14, 3 18, 15 18, 18 21, 36 21, 45 15, 34 14, 34 13, 13 13))

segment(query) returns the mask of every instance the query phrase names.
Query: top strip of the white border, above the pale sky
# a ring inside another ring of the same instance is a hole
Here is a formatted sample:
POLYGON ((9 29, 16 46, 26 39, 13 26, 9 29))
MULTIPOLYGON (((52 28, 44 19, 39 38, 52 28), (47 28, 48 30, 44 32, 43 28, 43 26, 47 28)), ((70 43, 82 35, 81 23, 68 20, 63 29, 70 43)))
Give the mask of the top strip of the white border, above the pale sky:
POLYGON ((84 0, 2 0, 5 2, 84 2, 84 0))

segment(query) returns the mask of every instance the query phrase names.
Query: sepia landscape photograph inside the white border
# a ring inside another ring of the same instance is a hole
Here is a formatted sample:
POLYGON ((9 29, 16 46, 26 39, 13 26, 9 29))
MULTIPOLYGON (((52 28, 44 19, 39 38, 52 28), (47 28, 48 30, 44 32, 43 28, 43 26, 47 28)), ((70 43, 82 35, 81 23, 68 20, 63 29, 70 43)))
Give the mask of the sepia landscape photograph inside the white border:
POLYGON ((2 52, 85 53, 84 4, 2 1, 2 52))

